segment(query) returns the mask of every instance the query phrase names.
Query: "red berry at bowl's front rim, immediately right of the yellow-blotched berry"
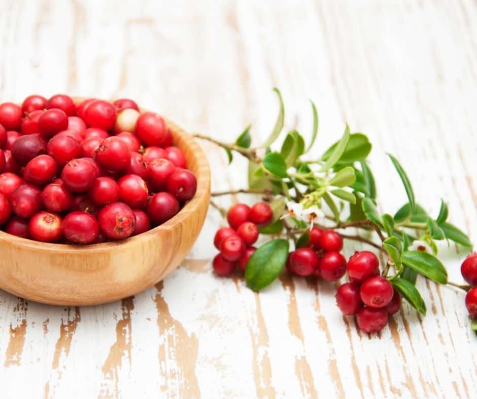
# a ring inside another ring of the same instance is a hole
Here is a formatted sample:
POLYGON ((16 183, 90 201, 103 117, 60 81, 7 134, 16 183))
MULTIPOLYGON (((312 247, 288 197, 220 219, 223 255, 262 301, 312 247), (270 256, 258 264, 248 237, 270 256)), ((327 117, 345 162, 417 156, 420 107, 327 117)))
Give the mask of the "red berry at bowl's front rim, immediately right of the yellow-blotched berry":
POLYGON ((96 218, 85 212, 67 214, 63 219, 62 229, 66 239, 76 244, 90 244, 99 233, 96 218))

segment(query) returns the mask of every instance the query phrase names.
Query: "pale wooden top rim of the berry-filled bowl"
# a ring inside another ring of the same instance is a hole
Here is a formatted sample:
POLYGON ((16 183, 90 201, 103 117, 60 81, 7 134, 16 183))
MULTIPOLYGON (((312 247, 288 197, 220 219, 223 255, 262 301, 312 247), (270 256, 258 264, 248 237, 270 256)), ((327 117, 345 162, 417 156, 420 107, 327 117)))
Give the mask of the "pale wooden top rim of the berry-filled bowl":
MULTIPOLYGON (((72 97, 75 101, 75 104, 85 100, 86 98, 81 97, 72 97)), ((150 112, 146 109, 140 108, 140 112, 150 112)), ((162 115, 161 115, 162 116, 162 115)), ((197 191, 190 201, 188 201, 181 210, 174 215, 171 219, 166 222, 156 226, 144 233, 134 235, 132 237, 125 238, 124 240, 113 241, 108 243, 100 244, 87 244, 87 245, 73 245, 73 244, 57 244, 57 243, 43 243, 41 241, 30 240, 29 238, 19 237, 13 234, 6 233, 3 230, 0 230, 0 241, 9 241, 11 244, 17 245, 22 248, 30 248, 41 250, 45 249, 50 252, 57 252, 63 254, 74 254, 74 253, 84 253, 84 252, 103 252, 105 250, 111 250, 114 248, 125 248, 134 244, 137 244, 139 241, 145 241, 153 236, 161 234, 176 225, 179 225, 183 220, 185 220, 189 213, 193 211, 198 204, 200 204, 204 197, 208 195, 208 190, 210 189, 210 166, 207 160, 206 154, 203 152, 199 144, 194 140, 194 138, 184 131, 181 127, 175 123, 169 121, 166 117, 162 116, 167 127, 173 131, 173 134, 181 136, 189 147, 192 149, 192 153, 195 154, 197 170, 197 191)))

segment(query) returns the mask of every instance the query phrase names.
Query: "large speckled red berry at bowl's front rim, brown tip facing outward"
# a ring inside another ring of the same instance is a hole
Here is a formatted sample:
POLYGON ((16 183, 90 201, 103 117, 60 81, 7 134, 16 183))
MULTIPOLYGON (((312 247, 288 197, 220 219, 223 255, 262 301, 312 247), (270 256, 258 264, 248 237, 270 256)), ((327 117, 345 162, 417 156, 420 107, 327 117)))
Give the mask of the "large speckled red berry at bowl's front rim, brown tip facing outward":
POLYGON ((112 240, 123 240, 134 231, 135 215, 126 204, 114 202, 99 212, 101 231, 112 240))

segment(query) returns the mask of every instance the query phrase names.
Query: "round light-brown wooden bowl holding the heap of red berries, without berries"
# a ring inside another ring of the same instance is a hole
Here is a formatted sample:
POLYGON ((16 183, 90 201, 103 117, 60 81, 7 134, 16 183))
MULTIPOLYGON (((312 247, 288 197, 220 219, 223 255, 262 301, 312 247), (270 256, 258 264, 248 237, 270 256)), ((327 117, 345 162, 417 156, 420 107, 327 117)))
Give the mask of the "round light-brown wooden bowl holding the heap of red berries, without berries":
POLYGON ((0 288, 52 305, 95 305, 137 294, 176 269, 206 218, 210 169, 194 139, 166 123, 197 177, 195 196, 176 216, 127 240, 87 246, 45 244, 0 231, 0 288))

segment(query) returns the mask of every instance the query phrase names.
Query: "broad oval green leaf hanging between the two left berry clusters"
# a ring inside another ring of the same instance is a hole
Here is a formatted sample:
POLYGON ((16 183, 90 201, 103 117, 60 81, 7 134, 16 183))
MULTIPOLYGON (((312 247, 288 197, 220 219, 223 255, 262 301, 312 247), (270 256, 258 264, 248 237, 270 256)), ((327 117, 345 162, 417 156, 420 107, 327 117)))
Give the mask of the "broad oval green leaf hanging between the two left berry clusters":
POLYGON ((258 248, 250 257, 245 270, 247 286, 259 291, 271 284, 287 261, 289 244, 278 238, 258 248))

